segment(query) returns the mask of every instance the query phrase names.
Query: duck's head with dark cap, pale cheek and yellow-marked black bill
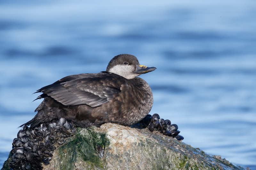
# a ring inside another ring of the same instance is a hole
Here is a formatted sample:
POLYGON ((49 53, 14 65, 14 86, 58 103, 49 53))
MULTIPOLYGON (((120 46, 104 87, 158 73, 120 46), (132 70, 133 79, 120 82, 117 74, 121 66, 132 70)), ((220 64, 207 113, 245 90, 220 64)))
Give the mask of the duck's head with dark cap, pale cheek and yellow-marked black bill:
POLYGON ((154 71, 156 67, 140 65, 138 59, 131 54, 120 54, 109 61, 107 72, 115 73, 126 79, 133 79, 140 74, 154 71))

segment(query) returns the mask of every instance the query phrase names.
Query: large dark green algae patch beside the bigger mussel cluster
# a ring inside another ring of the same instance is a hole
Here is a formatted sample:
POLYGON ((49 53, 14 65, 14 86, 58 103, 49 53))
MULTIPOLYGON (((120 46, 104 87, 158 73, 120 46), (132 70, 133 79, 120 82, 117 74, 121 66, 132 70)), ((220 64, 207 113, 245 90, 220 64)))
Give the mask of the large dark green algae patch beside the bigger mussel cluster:
POLYGON ((57 161, 60 169, 75 169, 77 160, 83 160, 84 166, 92 169, 106 166, 106 161, 98 156, 97 148, 98 145, 108 148, 109 140, 105 133, 96 132, 94 128, 77 128, 75 138, 59 148, 57 161))

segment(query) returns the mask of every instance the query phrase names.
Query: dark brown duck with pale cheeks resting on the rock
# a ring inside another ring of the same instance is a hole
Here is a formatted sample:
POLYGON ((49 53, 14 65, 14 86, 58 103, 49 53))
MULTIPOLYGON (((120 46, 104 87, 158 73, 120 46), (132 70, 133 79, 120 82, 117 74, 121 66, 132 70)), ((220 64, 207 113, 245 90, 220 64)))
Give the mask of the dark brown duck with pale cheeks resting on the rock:
POLYGON ((35 100, 44 100, 36 116, 20 127, 34 128, 61 117, 84 128, 136 124, 153 106, 152 90, 138 76, 154 70, 140 65, 134 55, 120 54, 110 60, 106 71, 64 77, 35 92, 43 93, 35 100))

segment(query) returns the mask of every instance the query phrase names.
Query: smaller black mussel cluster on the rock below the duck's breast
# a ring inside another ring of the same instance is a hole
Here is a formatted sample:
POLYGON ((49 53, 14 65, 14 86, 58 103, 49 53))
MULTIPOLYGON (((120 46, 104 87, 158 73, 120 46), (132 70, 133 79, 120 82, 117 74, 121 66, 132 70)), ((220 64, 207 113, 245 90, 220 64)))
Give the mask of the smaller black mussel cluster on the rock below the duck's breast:
POLYGON ((166 119, 161 119, 158 114, 153 114, 152 116, 148 114, 144 119, 142 119, 139 123, 132 125, 131 127, 143 129, 148 128, 149 131, 160 131, 166 136, 173 137, 177 140, 183 140, 184 137, 179 135, 180 131, 178 131, 177 124, 171 124, 171 121, 166 119))

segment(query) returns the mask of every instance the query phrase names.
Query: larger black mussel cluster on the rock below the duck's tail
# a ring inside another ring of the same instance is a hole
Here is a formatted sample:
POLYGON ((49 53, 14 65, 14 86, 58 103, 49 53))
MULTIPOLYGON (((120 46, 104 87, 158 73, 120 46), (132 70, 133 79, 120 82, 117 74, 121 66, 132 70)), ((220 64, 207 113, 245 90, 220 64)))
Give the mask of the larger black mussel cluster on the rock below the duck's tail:
POLYGON ((9 166, 13 170, 43 169, 42 163, 50 163, 56 146, 62 145, 65 138, 72 136, 75 131, 73 123, 64 118, 33 129, 24 127, 13 139, 12 162, 9 166))

